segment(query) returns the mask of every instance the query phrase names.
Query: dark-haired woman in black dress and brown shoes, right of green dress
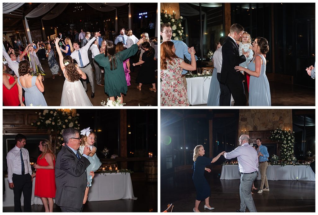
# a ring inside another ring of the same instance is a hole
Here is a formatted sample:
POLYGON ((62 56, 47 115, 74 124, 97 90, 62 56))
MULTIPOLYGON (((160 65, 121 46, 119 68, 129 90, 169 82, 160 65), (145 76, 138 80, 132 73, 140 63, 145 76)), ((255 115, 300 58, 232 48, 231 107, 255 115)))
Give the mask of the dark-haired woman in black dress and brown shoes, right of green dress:
POLYGON ((136 83, 139 83, 137 89, 141 91, 142 84, 152 84, 152 88, 149 88, 149 90, 156 92, 155 68, 157 68, 157 62, 154 60, 155 49, 151 47, 149 42, 144 42, 142 49, 145 50, 142 60, 133 64, 133 66, 141 65, 138 77, 136 78, 136 83))

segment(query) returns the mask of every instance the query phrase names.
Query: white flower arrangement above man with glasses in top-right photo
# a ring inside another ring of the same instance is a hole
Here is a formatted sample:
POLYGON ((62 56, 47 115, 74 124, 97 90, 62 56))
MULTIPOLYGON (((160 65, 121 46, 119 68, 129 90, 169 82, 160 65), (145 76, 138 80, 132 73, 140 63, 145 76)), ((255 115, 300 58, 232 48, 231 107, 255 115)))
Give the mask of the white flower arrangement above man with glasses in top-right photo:
POLYGON ((176 18, 176 12, 173 11, 172 14, 168 14, 167 11, 162 10, 160 13, 160 24, 168 23, 171 25, 172 29, 172 37, 173 40, 184 40, 185 35, 183 34, 182 27, 182 19, 183 17, 176 18))

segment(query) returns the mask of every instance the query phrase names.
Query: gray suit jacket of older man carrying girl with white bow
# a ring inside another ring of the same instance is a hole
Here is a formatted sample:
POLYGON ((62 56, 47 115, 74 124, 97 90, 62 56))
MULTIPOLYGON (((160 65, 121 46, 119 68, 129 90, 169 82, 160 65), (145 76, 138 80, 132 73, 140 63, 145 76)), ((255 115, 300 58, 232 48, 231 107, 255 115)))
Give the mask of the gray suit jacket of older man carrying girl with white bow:
POLYGON ((88 165, 87 158, 78 159, 68 146, 62 147, 55 161, 56 205, 76 209, 83 206, 88 165))

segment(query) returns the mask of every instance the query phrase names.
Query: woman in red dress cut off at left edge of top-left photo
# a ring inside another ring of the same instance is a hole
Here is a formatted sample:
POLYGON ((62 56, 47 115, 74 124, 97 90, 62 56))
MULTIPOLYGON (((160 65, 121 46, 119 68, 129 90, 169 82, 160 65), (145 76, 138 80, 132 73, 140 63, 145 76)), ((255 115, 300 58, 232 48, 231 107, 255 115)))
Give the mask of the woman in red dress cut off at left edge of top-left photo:
MULTIPOLYGON (((3 73, 2 73, 2 97, 4 106, 24 106, 20 104, 19 101, 19 92, 17 87, 17 77, 12 76, 5 72, 5 65, 3 64, 3 73)), ((24 101, 24 97, 22 97, 24 101)))

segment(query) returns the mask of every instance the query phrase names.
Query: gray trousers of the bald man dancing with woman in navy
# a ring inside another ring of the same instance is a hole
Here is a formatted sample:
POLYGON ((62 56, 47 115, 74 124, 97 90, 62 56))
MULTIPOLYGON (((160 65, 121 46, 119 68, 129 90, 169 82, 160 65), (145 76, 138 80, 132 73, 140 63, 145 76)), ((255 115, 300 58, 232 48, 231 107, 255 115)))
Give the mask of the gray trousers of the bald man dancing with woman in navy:
POLYGON ((257 172, 252 174, 241 174, 241 184, 239 185, 239 197, 241 199, 240 211, 245 212, 246 207, 250 212, 257 212, 252 198, 251 190, 257 172))

